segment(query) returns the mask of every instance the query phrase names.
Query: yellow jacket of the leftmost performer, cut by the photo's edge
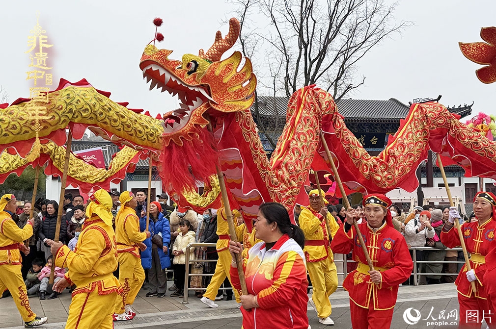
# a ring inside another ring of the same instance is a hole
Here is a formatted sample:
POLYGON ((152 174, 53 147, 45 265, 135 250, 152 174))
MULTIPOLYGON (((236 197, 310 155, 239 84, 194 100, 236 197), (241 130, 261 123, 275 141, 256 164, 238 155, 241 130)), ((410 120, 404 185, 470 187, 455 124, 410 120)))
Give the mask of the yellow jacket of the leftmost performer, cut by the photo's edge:
POLYGON ((19 246, 33 235, 33 226, 20 229, 9 213, 0 212, 0 265, 21 265, 19 246))

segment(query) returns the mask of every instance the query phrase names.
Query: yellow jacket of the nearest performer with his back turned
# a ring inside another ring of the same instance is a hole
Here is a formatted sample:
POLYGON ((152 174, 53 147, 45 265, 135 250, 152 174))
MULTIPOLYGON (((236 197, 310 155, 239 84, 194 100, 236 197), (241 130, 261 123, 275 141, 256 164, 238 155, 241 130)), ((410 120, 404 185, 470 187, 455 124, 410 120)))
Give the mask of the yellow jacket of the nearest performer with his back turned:
POLYGON ((86 219, 74 251, 63 245, 55 258, 56 266, 69 269, 65 278, 77 286, 72 295, 95 288, 100 295, 120 293, 121 283, 113 274, 117 264, 114 230, 96 216, 86 219))

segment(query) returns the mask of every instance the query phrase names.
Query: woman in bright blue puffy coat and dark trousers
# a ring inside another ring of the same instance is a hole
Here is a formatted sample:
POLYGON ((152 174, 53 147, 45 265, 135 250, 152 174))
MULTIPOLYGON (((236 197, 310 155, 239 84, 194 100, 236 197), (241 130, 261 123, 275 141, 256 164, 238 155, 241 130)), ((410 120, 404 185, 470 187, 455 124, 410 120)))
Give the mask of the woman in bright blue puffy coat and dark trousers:
MULTIPOLYGON (((139 226, 142 232, 145 231, 146 214, 144 212, 141 212, 139 226)), ((162 214, 162 206, 156 201, 150 203, 148 230, 152 236, 143 241, 147 248, 141 252, 141 265, 143 269, 149 270, 150 292, 146 294, 146 297, 164 297, 167 288, 167 276, 164 269, 171 266, 169 258, 171 228, 169 220, 162 214)))

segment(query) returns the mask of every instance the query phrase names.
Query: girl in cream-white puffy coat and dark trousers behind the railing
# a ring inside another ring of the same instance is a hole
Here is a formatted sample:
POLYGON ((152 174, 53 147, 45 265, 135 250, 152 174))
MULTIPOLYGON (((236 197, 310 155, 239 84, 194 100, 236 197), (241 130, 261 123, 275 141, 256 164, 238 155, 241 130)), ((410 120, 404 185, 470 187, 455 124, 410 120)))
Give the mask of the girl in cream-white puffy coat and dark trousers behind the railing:
MULTIPOLYGON (((190 243, 196 242, 196 233, 189 220, 181 220, 179 222, 179 229, 181 230, 181 232, 176 237, 174 245, 172 246, 172 254, 174 255, 172 268, 174 269, 174 284, 176 285, 176 291, 171 293, 171 297, 182 297, 184 294, 186 275, 186 246, 190 243)), ((190 249, 191 255, 193 255, 193 251, 194 247, 190 249)))

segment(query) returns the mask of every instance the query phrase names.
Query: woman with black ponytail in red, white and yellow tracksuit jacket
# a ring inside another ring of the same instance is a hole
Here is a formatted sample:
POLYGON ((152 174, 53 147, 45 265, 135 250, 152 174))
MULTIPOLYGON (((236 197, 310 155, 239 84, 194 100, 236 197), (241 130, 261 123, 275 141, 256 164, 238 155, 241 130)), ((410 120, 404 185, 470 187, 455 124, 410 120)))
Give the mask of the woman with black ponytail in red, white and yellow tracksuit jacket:
POLYGON ((262 240, 242 251, 230 241, 231 282, 241 289, 234 254, 243 252, 243 271, 248 295, 240 296, 244 329, 308 329, 307 269, 303 231, 292 224, 283 205, 260 206, 254 224, 255 237, 262 240))

